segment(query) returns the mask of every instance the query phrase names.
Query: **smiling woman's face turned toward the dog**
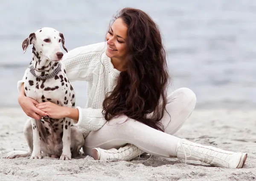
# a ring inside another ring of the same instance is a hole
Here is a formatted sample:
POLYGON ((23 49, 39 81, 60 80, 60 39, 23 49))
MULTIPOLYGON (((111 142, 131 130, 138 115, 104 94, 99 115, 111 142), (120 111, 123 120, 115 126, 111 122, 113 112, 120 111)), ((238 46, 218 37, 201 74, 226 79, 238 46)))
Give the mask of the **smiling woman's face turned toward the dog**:
POLYGON ((106 55, 110 58, 125 59, 127 55, 126 38, 127 26, 121 18, 117 18, 106 35, 108 44, 106 55))

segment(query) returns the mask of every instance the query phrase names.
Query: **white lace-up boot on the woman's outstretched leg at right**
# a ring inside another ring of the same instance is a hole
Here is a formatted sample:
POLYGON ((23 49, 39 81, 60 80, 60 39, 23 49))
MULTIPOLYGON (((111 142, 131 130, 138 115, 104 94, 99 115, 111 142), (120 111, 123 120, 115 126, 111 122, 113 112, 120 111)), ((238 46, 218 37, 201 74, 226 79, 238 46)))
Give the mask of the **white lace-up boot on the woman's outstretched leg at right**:
MULTIPOLYGON (((216 167, 242 168, 247 153, 231 152, 211 146, 203 146, 186 139, 177 144, 177 158, 197 160, 216 167)), ((185 161, 186 163, 186 161, 185 161)))

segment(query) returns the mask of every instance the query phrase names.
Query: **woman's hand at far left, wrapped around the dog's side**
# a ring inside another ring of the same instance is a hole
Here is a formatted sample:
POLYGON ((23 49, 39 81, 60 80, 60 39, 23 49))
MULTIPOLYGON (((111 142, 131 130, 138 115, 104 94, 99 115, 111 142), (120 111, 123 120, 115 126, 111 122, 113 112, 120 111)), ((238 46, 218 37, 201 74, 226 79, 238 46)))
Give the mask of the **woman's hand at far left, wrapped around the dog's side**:
POLYGON ((23 111, 26 113, 26 115, 31 118, 39 120, 42 118, 42 116, 49 116, 44 111, 35 107, 35 105, 38 104, 38 102, 35 99, 32 99, 25 95, 19 95, 18 102, 19 102, 20 106, 22 107, 23 111))

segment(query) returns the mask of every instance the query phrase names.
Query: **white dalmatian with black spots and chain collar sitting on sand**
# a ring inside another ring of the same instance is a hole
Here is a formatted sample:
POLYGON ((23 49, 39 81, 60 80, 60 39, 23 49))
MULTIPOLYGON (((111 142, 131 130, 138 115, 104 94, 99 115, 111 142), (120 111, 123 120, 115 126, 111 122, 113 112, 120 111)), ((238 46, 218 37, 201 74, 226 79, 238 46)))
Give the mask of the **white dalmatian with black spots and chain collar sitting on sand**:
MULTIPOLYGON (((64 54, 60 44, 67 51, 63 34, 53 28, 41 28, 23 41, 23 53, 30 44, 33 44, 33 57, 24 75, 26 96, 39 103, 49 101, 65 107, 74 107, 75 93, 61 63, 64 54)), ((71 160, 71 157, 79 155, 79 150, 84 144, 81 130, 72 126, 72 121, 69 118, 53 119, 47 116, 43 116, 41 120, 28 119, 23 132, 29 152, 13 151, 6 158, 31 155, 32 159, 49 156, 71 160)))

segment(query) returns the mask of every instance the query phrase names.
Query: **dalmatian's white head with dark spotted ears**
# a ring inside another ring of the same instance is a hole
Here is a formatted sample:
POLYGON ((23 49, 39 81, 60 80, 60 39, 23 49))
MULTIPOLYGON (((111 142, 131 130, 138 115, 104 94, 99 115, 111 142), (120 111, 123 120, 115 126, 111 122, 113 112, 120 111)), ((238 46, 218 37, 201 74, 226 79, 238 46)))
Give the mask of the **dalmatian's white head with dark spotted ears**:
POLYGON ((64 42, 65 40, 62 33, 53 28, 41 28, 35 33, 29 34, 29 37, 22 42, 23 53, 26 52, 30 44, 33 44, 38 53, 42 54, 50 61, 57 62, 63 57, 60 44, 62 44, 64 50, 67 51, 64 42))

